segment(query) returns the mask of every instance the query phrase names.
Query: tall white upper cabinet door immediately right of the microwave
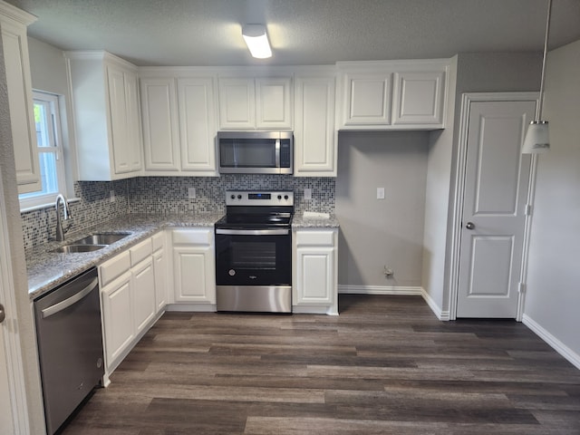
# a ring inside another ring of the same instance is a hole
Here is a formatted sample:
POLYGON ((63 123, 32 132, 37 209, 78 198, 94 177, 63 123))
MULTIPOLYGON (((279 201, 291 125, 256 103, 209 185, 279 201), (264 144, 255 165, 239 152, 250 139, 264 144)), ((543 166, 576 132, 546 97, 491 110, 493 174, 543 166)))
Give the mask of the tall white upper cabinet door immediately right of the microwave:
POLYGON ((295 176, 336 176, 334 77, 295 79, 295 176))

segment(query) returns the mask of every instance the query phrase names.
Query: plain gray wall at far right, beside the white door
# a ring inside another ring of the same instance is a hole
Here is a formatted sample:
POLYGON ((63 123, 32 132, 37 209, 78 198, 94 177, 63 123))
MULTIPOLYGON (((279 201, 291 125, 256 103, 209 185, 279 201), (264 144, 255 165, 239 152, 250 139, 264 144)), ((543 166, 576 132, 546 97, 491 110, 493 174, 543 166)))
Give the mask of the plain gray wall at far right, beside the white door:
POLYGON ((524 322, 580 368, 580 41, 548 54, 545 102, 551 149, 538 156, 524 322))

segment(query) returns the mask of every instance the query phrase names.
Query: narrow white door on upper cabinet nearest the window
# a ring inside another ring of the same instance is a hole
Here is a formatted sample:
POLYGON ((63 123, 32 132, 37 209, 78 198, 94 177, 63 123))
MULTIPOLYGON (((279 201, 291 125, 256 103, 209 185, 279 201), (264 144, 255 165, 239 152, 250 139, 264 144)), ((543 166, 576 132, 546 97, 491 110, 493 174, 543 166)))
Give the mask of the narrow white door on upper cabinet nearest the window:
POLYGON ((111 122, 111 148, 115 174, 131 172, 131 146, 127 107, 125 105, 125 77, 123 72, 111 65, 107 67, 109 84, 109 116, 111 122))

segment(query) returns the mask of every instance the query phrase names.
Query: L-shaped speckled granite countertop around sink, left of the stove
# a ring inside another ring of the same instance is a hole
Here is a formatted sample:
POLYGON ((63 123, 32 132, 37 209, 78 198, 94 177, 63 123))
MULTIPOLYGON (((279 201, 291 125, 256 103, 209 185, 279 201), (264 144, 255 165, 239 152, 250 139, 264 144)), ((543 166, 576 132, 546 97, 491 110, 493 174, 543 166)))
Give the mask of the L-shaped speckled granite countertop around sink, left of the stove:
POLYGON ((213 227, 223 214, 194 215, 127 215, 89 228, 65 235, 63 242, 49 242, 26 251, 28 295, 31 300, 43 295, 56 285, 61 285, 92 266, 115 256, 121 251, 151 237, 165 227, 213 227), (103 247, 98 251, 78 254, 51 252, 94 233, 131 233, 128 237, 103 247))

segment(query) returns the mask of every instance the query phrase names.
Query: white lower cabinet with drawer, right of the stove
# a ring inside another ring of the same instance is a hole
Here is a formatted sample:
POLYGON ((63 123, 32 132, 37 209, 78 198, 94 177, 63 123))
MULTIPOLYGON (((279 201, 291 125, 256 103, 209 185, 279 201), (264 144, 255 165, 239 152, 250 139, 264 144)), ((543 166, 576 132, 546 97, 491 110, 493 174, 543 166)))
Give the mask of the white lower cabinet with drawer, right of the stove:
POLYGON ((338 229, 296 230, 293 237, 293 312, 338 314, 338 229))

